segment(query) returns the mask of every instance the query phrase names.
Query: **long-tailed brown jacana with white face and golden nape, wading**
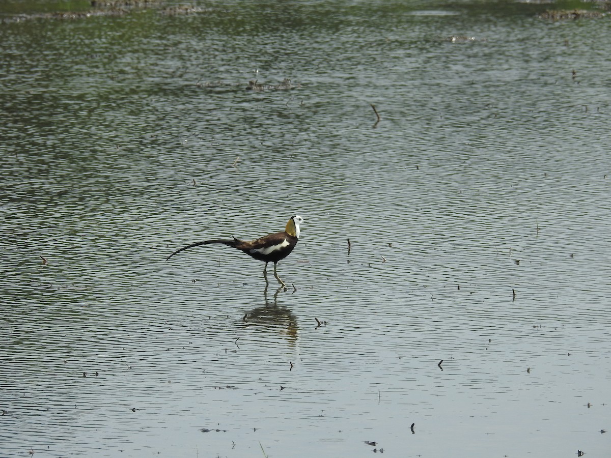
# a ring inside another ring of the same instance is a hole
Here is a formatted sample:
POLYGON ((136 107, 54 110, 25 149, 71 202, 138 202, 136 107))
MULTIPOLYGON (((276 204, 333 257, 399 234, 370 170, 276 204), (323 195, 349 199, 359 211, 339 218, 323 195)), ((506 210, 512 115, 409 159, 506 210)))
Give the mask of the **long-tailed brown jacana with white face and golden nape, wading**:
POLYGON ((278 280, 280 285, 287 286, 282 280, 280 280, 280 277, 278 277, 276 267, 278 261, 283 260, 288 255, 290 255, 291 251, 293 251, 293 248, 295 248, 295 245, 299 241, 299 225, 302 222, 304 222, 304 219, 301 216, 293 216, 290 220, 288 220, 287 227, 284 231, 276 232, 274 234, 268 234, 260 239, 252 241, 240 240, 234 237, 233 239, 217 239, 197 242, 188 245, 184 248, 181 248, 180 250, 176 250, 174 253, 167 256, 166 261, 183 250, 197 247, 199 245, 219 243, 234 247, 240 250, 241 252, 244 252, 247 255, 251 256, 252 258, 265 262, 265 268, 263 269, 263 277, 265 277, 265 283, 267 284, 269 284, 267 280, 267 264, 270 262, 274 263, 274 277, 276 277, 276 280, 278 280))

